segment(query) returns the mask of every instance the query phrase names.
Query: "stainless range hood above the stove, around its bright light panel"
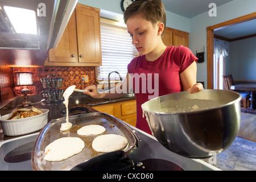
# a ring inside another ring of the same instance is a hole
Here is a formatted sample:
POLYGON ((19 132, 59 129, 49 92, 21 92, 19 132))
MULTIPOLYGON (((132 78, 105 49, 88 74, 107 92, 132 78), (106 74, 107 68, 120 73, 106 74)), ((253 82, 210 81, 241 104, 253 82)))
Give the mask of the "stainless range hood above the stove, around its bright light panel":
POLYGON ((49 48, 56 47, 77 1, 0 0, 0 49, 47 51, 49 48), (36 34, 18 33, 5 6, 33 10, 36 19, 36 34))

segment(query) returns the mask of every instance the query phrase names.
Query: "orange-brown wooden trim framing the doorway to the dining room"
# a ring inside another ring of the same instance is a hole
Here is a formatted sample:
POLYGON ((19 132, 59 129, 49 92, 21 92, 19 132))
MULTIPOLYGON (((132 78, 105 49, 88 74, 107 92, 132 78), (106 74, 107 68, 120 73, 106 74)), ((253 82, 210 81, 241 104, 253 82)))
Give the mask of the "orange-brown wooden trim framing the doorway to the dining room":
POLYGON ((256 19, 256 12, 207 27, 207 88, 214 88, 214 30, 256 19))

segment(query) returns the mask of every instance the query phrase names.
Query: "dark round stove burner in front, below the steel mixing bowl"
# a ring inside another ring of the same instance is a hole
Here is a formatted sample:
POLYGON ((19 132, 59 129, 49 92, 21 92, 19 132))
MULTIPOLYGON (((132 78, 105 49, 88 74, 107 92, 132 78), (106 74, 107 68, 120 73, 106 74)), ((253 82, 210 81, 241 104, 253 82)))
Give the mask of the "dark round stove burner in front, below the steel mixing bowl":
POLYGON ((184 171, 183 168, 177 166, 164 159, 146 159, 134 165, 135 171, 184 171))

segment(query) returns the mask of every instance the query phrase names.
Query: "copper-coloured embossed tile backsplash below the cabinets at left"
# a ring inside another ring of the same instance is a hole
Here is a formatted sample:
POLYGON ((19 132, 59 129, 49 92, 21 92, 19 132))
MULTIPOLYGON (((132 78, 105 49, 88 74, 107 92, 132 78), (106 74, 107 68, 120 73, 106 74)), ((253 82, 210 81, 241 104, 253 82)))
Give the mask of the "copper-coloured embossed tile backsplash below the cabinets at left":
POLYGON ((15 96, 14 93, 14 75, 15 72, 31 72, 33 73, 33 83, 36 94, 40 94, 43 90, 40 78, 63 77, 62 86, 59 89, 67 89, 68 86, 76 85, 77 89, 82 89, 81 75, 88 75, 89 82, 83 86, 93 85, 96 82, 95 68, 94 67, 32 67, 11 68, 5 59, 0 60, 0 92, 1 100, 3 102, 15 96))

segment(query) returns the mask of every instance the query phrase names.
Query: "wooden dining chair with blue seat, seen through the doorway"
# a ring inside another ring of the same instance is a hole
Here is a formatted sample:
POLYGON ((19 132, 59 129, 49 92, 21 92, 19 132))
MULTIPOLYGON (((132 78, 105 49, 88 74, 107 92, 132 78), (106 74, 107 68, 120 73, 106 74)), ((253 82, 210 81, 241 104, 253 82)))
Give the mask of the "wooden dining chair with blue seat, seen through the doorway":
MULTIPOLYGON (((234 80, 232 75, 225 75, 223 76, 223 80, 224 80, 224 86, 226 90, 230 90, 231 85, 234 85, 234 80)), ((250 93, 248 92, 242 92, 239 90, 233 90, 235 92, 238 92, 241 95, 241 109, 246 109, 248 107, 250 107, 250 93)))

